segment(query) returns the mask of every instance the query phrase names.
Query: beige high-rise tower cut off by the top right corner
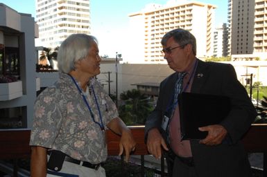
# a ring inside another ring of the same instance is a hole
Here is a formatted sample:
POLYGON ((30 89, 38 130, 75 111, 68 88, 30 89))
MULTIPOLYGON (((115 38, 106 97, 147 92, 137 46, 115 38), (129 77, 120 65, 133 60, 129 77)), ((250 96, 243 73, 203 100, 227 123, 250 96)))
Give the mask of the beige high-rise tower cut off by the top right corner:
POLYGON ((246 54, 253 59, 267 59, 266 6, 266 0, 228 1, 230 53, 235 59, 242 60, 246 54))

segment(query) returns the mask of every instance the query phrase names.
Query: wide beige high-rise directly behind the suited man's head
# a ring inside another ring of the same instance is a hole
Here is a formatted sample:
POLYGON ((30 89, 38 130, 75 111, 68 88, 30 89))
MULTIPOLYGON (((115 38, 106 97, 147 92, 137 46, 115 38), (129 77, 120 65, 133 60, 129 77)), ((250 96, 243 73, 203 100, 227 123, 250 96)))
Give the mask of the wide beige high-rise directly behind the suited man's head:
POLYGON ((212 56, 215 8, 196 1, 175 1, 165 6, 148 4, 141 12, 130 14, 130 34, 134 34, 130 41, 137 52, 128 62, 165 64, 160 41, 175 28, 189 30, 196 37, 198 57, 212 56))

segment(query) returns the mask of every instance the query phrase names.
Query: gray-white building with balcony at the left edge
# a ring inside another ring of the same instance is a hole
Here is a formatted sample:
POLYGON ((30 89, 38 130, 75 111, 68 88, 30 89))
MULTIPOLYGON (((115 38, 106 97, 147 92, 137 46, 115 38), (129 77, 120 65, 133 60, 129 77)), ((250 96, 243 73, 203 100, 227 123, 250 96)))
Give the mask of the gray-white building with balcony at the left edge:
POLYGON ((24 128, 32 125, 33 104, 40 90, 35 73, 35 37, 38 28, 31 15, 0 3, 0 77, 18 79, 0 83, 0 118, 6 122, 18 119, 24 128))

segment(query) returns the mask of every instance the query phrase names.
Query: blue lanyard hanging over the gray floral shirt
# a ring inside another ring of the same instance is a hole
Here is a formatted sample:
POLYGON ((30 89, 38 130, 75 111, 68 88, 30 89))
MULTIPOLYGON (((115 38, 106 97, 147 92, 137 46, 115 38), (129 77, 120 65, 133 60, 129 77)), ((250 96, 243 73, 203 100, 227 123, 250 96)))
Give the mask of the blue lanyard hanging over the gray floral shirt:
POLYGON ((80 86, 78 86, 78 84, 77 84, 76 80, 74 79, 74 77, 72 77, 70 74, 68 74, 68 75, 69 75, 69 76, 71 77, 71 79, 73 80, 73 82, 74 82, 74 84, 76 85, 78 91, 80 92, 80 95, 83 96, 83 100, 85 101, 85 104, 86 104, 87 108, 89 109, 89 112, 90 112, 90 115, 91 115, 91 117, 92 117, 92 120, 93 120, 96 124, 99 125, 99 127, 101 128, 102 131, 105 130, 105 127, 104 127, 104 124, 103 124, 103 121, 102 121, 101 111, 100 111, 100 109, 99 109, 99 104, 98 104, 98 102, 97 102, 96 94, 94 93, 94 87, 91 86, 92 91, 93 91, 93 94, 94 94, 94 101, 96 102, 96 106, 97 106, 97 109, 98 109, 98 114, 99 114, 101 123, 96 122, 96 120, 94 119, 93 111, 92 111, 92 109, 90 108, 89 103, 87 102, 87 99, 86 99, 85 95, 83 94, 82 89, 80 88, 80 86))

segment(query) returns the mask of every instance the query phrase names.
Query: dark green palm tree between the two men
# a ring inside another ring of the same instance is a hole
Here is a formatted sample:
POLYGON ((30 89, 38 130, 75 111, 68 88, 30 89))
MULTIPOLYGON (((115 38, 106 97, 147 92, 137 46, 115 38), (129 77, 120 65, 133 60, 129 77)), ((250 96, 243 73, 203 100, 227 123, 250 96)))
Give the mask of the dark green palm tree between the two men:
POLYGON ((153 110, 150 97, 136 89, 124 91, 120 95, 125 104, 119 107, 119 114, 126 124, 144 124, 146 117, 153 110))

